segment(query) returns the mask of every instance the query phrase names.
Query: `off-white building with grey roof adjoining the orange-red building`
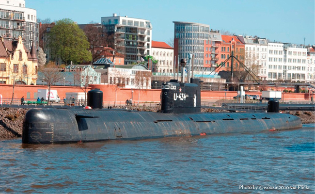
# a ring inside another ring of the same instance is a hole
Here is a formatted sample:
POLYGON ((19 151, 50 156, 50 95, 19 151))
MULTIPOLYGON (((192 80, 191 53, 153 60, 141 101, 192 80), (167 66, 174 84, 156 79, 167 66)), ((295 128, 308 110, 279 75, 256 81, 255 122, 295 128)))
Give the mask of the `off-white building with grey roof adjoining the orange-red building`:
POLYGON ((257 36, 238 35, 238 39, 245 44, 245 65, 261 80, 267 79, 268 41, 257 36))

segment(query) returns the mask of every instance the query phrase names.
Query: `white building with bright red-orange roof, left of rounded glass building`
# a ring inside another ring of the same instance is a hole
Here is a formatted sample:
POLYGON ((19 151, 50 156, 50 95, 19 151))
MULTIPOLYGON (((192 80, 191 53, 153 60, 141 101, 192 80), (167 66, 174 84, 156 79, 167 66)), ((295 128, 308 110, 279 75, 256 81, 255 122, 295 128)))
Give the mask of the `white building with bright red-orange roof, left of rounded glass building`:
POLYGON ((152 56, 157 60, 157 64, 152 66, 152 72, 173 73, 174 49, 165 42, 152 41, 152 56))

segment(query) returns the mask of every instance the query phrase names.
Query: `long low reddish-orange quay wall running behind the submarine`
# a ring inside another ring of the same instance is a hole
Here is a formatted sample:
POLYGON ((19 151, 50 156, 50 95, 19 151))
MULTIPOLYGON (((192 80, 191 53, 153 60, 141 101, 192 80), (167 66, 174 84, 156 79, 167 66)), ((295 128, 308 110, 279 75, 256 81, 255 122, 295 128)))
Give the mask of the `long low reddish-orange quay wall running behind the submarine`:
MULTIPOLYGON (((91 89, 99 88, 103 91, 104 101, 115 101, 115 87, 114 85, 91 85, 91 89)), ((88 90, 90 90, 90 88, 88 90)), ((31 98, 34 97, 34 93, 37 89, 47 89, 47 86, 42 85, 16 85, 15 87, 15 98, 27 97, 27 92, 31 93, 31 98)), ((62 99, 65 97, 66 92, 83 92, 79 87, 63 87, 63 86, 52 86, 52 90, 57 90, 59 97, 62 99)), ((140 90, 140 101, 160 101, 161 90, 157 89, 143 89, 140 90)), ((3 98, 12 97, 12 85, 0 84, 0 94, 3 98)), ((261 92, 246 92, 248 95, 259 95, 261 92)), ((133 96, 133 101, 138 101, 139 90, 138 89, 127 89, 117 88, 117 101, 126 101, 133 96), (132 93, 133 91, 133 93, 132 93)), ((202 99, 231 99, 237 95, 237 92, 224 92, 224 91, 202 91, 202 99), (226 94, 226 96, 225 96, 226 94)), ((315 94, 304 94, 304 93, 283 93, 285 99, 291 100, 308 100, 311 97, 315 97, 315 94)))

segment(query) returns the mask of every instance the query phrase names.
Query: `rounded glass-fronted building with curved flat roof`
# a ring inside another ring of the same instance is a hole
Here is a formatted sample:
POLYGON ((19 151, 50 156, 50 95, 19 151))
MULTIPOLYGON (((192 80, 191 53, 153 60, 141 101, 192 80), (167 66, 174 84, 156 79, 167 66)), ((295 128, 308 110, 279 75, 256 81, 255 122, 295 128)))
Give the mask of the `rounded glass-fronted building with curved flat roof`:
POLYGON ((205 40, 209 39, 209 25, 179 21, 173 23, 174 55, 179 59, 188 59, 189 53, 193 53, 194 66, 204 66, 205 40))

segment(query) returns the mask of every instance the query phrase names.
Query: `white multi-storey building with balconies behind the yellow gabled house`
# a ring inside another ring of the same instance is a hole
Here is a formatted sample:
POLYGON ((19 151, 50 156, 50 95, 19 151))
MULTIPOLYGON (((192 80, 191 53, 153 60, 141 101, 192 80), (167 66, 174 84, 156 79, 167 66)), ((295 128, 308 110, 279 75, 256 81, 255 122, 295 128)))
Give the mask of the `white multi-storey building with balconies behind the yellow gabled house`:
POLYGON ((4 40, 17 40, 22 37, 26 49, 31 49, 32 42, 37 50, 38 24, 36 10, 26 8, 25 0, 0 0, 0 36, 4 40))

